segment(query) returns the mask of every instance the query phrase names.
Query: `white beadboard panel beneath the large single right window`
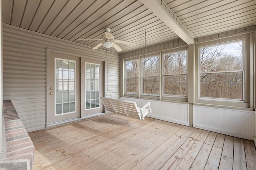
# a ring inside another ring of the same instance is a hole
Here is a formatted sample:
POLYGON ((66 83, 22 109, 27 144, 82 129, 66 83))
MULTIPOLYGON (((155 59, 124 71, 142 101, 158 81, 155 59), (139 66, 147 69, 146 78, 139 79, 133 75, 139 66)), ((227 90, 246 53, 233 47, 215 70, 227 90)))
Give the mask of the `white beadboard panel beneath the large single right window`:
POLYGON ((193 126, 254 140, 255 111, 193 106, 193 126))

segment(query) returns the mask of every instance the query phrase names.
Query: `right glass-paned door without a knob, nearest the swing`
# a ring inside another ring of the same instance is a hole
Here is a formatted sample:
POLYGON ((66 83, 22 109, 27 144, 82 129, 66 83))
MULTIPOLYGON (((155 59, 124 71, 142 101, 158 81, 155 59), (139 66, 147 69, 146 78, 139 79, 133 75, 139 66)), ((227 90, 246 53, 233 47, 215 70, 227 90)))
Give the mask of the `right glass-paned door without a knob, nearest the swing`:
POLYGON ((104 62, 81 59, 81 113, 83 116, 103 113, 100 96, 104 94, 104 62))

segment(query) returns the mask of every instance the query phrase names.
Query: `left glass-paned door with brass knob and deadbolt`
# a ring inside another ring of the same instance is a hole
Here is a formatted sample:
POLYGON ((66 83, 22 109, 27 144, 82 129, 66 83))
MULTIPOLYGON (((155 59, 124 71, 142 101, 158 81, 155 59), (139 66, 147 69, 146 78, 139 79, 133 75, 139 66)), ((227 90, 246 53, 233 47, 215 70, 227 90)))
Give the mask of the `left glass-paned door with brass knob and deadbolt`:
POLYGON ((81 117, 80 58, 49 52, 48 124, 81 117))

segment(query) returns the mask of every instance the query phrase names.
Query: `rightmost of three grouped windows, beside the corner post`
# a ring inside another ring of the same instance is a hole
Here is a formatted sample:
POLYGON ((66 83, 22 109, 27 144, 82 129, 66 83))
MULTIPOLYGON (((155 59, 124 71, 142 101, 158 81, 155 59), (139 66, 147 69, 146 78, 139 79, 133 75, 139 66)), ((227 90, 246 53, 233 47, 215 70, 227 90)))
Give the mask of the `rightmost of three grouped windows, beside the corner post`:
POLYGON ((162 56, 163 95, 187 96, 187 51, 162 56))

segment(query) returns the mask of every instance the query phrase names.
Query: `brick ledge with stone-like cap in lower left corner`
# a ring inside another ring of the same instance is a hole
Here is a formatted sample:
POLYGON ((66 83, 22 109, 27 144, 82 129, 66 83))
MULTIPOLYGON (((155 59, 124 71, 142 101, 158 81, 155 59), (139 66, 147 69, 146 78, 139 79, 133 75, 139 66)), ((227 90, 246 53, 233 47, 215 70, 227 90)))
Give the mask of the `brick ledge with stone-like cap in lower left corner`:
POLYGON ((10 100, 3 106, 6 157, 0 159, 0 169, 32 169, 34 145, 10 100))

